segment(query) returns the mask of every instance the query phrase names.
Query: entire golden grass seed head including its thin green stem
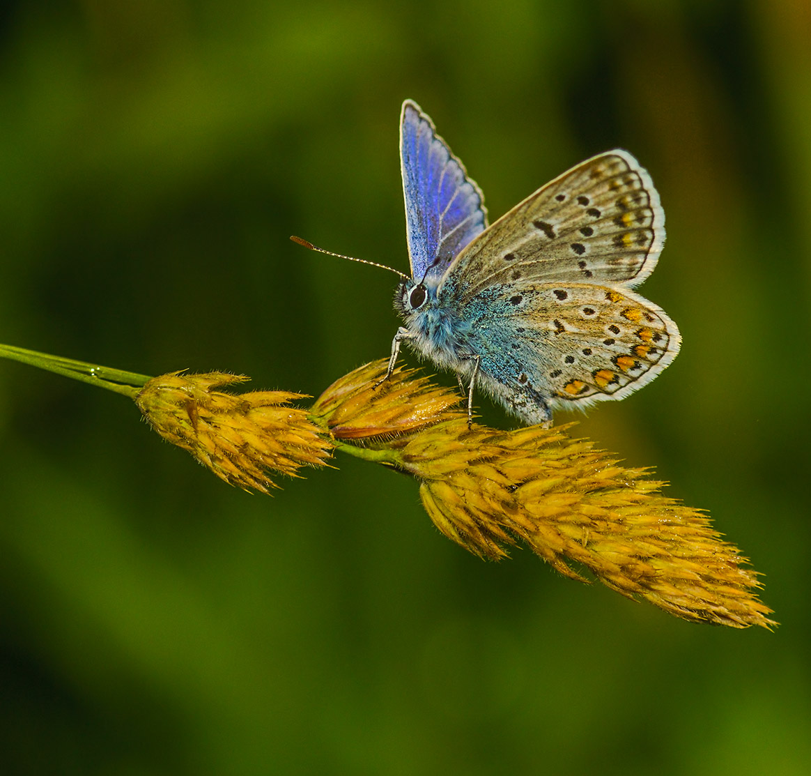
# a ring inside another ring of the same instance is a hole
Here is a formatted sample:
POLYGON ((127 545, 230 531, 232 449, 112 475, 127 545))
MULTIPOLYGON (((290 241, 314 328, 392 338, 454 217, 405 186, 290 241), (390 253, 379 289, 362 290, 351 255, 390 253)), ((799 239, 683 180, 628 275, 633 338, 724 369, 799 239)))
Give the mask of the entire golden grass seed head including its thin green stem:
POLYGON ((414 476, 437 528, 482 558, 519 541, 561 574, 643 598, 677 617, 770 628, 757 574, 702 511, 661 493, 646 470, 624 468, 569 426, 498 431, 468 427, 455 390, 384 360, 334 382, 309 413, 302 394, 217 390, 239 375, 150 378, 0 345, 0 356, 114 390, 135 400, 152 428, 222 480, 268 493, 269 472, 323 466, 333 448, 414 476), (573 567, 574 566, 574 567, 573 567))

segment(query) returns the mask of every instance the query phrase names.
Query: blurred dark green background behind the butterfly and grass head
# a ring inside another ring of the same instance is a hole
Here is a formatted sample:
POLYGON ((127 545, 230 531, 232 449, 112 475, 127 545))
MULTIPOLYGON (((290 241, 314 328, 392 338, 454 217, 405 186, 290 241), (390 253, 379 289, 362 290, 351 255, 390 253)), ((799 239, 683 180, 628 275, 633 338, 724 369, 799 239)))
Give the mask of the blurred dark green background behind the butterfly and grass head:
POLYGON ((811 772, 808 2, 18 0, 0 35, 0 340, 135 372, 318 394, 387 355, 394 278, 288 236, 407 268, 405 97, 491 218, 631 150, 684 346, 575 433, 708 509, 783 623, 482 563, 354 459, 244 494, 3 361, 4 774, 811 772))

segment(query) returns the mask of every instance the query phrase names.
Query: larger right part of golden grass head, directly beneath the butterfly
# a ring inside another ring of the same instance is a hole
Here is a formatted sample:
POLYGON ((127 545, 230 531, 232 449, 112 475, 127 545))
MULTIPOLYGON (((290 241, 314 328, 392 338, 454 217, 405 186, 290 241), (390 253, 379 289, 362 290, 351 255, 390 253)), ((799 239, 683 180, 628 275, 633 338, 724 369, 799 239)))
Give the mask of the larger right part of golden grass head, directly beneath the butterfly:
POLYGON ((397 468, 420 483, 437 528, 483 558, 525 541, 557 571, 572 564, 627 597, 693 622, 769 628, 771 610, 746 558, 710 519, 661 494, 644 469, 624 468, 569 426, 502 432, 468 428, 458 394, 399 369, 372 390, 379 361, 330 386, 312 412, 338 449, 397 468))

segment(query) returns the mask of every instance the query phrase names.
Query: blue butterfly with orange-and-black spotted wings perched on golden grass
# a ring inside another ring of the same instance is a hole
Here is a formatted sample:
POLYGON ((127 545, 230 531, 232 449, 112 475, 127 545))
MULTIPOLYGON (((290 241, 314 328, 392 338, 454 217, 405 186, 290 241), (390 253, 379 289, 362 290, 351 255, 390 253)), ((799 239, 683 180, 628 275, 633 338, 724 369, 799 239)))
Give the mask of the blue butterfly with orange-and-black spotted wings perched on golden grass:
POLYGON ((411 275, 398 273, 405 325, 386 377, 405 342, 467 382, 470 422, 480 389, 549 426, 553 409, 624 399, 676 358, 676 324, 633 291, 665 233, 659 194, 630 153, 581 162, 489 226, 481 189, 411 100, 400 158, 411 275))

